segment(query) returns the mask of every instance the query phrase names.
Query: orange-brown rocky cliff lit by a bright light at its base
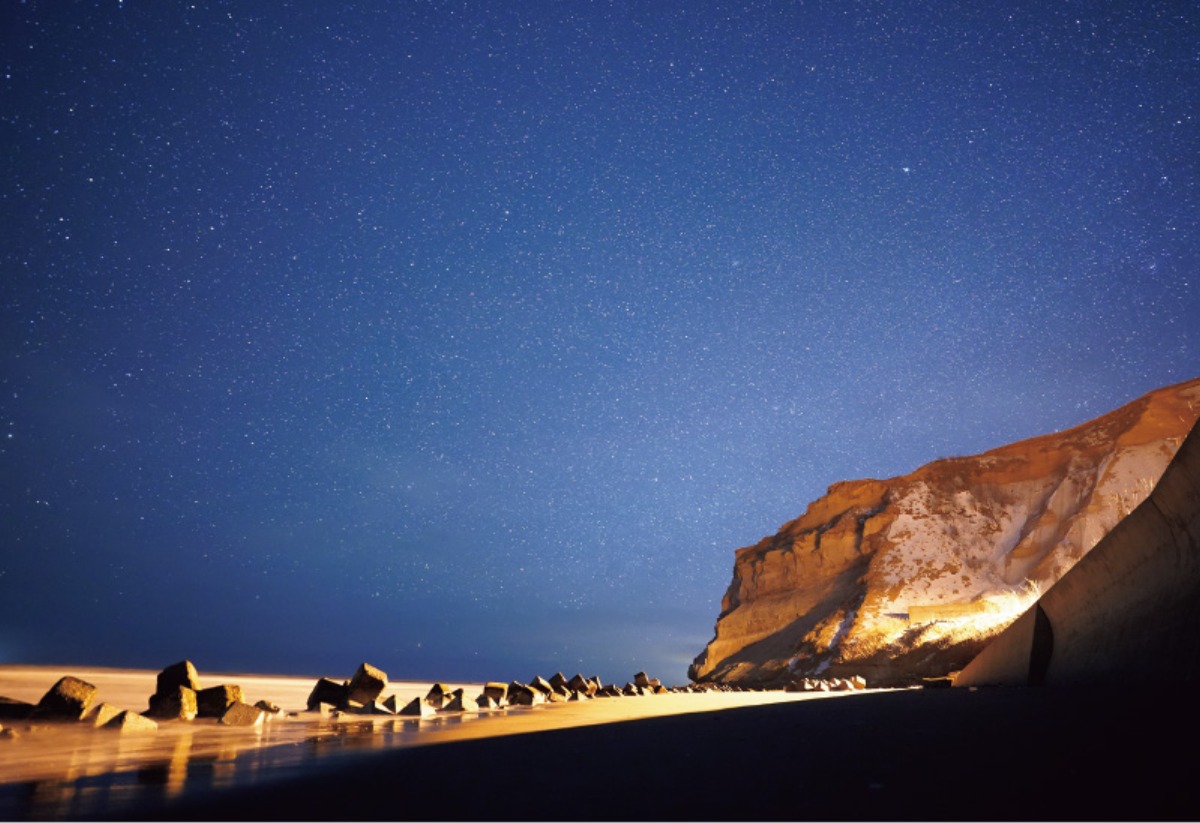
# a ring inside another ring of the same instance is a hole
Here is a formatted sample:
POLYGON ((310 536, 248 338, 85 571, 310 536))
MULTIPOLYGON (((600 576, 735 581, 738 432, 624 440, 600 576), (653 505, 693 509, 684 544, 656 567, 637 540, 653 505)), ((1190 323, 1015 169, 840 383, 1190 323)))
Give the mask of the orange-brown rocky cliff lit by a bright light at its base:
POLYGON ((835 483, 738 549, 698 681, 962 668, 1151 492, 1200 416, 1200 379, 1075 428, 890 480, 835 483))

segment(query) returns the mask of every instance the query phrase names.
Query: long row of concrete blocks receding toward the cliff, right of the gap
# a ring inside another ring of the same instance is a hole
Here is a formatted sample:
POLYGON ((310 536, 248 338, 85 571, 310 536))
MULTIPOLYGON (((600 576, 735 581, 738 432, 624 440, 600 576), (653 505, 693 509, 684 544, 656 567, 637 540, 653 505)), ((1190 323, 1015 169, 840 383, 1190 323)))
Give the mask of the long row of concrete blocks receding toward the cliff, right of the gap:
POLYGON ((632 697, 660 695, 670 691, 658 679, 644 672, 634 675, 624 686, 604 685, 600 678, 582 674, 568 679, 559 672, 548 680, 535 677, 529 683, 492 681, 484 685, 480 695, 472 698, 463 689, 436 683, 425 697, 414 697, 400 705, 395 695, 380 699, 388 686, 388 675, 370 663, 362 663, 349 680, 337 683, 322 678, 308 695, 310 711, 322 714, 385 714, 408 717, 427 717, 438 711, 487 711, 510 705, 539 705, 569 701, 587 701, 595 697, 632 697))

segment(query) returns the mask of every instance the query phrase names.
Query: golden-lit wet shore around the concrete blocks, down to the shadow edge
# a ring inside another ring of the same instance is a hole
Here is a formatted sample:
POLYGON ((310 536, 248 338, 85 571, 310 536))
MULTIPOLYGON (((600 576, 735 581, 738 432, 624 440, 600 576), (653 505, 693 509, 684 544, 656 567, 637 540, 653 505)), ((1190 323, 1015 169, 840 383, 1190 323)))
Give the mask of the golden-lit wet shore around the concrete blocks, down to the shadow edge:
MULTIPOLYGON (((157 672, 61 666, 0 666, 0 695, 36 703, 62 674, 95 685, 96 702, 142 710, 157 672)), ((121 734, 73 723, 10 723, 17 739, 0 740, 0 818, 122 817, 164 804, 203 804, 232 789, 307 780, 335 762, 407 747, 604 726, 667 715, 845 697, 834 693, 671 693, 512 707, 493 711, 395 716, 320 717, 305 713, 318 675, 282 677, 204 673, 208 685, 240 685, 247 702, 268 699, 290 716, 254 728, 228 728, 212 720, 160 723, 158 731, 121 734)), ((432 684, 389 683, 384 696, 407 703, 432 684)), ((475 695, 482 684, 448 684, 475 695)), ((155 812, 157 813, 157 812, 155 812)), ((341 817, 329 810, 332 817, 341 817)), ((151 816, 155 816, 154 813, 151 816)), ((290 815, 287 815, 290 816, 290 815)))

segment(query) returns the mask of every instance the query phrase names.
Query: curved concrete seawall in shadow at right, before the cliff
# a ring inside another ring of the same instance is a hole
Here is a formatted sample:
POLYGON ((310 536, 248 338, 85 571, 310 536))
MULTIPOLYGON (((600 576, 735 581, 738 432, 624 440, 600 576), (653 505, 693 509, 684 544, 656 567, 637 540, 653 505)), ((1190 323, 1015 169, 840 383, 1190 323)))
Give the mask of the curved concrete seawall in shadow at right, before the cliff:
POLYGON ((956 686, 1200 681, 1200 425, 1151 495, 956 686))

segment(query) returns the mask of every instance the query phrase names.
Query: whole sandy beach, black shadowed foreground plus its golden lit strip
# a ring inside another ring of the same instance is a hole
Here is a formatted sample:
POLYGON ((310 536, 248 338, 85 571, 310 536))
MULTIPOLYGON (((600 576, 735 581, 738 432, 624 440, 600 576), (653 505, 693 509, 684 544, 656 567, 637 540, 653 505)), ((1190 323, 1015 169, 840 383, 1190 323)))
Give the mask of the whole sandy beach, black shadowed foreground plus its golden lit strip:
POLYGON ((1192 692, 678 695, 326 725, 0 786, 0 818, 1198 819, 1192 692))

